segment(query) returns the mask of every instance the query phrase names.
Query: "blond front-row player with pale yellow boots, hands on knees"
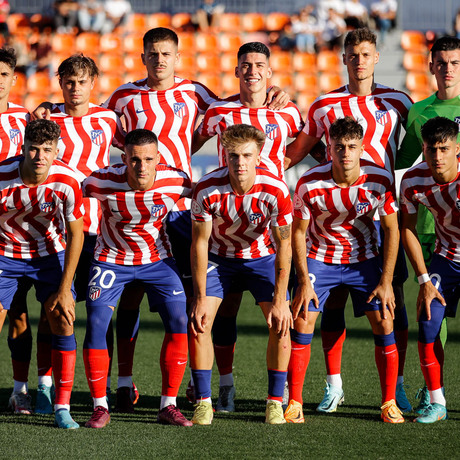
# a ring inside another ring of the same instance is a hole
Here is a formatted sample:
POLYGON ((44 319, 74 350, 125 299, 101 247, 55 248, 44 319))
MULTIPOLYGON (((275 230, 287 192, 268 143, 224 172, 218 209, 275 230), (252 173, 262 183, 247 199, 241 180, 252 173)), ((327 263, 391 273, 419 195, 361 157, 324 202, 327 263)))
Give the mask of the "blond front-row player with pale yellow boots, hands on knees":
POLYGON ((292 202, 283 181, 257 168, 265 142, 263 132, 234 125, 225 130, 221 142, 228 166, 204 176, 192 201, 190 259, 195 297, 189 348, 197 398, 192 422, 212 422, 211 329, 222 299, 232 282, 237 282, 254 295, 269 328, 265 422, 281 424, 285 423, 281 401, 291 349, 289 328, 293 326, 286 300, 292 202))

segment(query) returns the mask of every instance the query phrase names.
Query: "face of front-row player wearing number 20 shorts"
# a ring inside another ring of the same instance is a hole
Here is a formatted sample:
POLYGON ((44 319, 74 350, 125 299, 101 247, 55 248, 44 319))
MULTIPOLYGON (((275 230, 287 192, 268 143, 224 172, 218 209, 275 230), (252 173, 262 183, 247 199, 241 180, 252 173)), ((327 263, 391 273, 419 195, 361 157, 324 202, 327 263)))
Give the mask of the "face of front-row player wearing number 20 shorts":
POLYGON ((121 155, 126 165, 128 184, 133 190, 148 190, 153 186, 160 154, 155 144, 127 145, 121 155))

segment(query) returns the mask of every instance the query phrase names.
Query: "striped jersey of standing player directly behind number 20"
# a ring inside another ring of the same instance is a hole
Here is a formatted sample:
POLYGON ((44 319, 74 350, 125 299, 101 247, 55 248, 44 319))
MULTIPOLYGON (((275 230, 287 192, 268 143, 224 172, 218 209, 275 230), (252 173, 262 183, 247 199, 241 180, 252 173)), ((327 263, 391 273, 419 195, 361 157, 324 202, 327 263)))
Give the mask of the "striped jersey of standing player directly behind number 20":
POLYGON ((218 97, 200 83, 175 77, 174 86, 156 91, 147 79, 120 86, 103 104, 126 119, 126 130, 153 131, 158 137, 161 163, 192 178, 191 145, 195 122, 218 97))

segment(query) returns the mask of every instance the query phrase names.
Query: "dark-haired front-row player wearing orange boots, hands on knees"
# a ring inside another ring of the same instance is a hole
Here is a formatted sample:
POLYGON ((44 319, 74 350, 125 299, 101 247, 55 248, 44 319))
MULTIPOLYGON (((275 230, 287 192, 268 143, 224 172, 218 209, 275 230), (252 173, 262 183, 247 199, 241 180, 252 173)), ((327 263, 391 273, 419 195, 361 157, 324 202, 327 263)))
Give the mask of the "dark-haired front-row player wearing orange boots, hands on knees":
MULTIPOLYGON (((293 256, 298 286, 292 305, 292 348, 300 351, 293 352, 289 364, 298 378, 289 379, 295 388, 289 388, 288 422, 304 421, 301 395, 315 321, 336 286, 349 288, 355 316, 366 315, 371 324, 382 389, 381 417, 388 423, 404 422, 395 403, 398 352, 392 280, 399 230, 394 183, 388 171, 360 159, 362 140, 357 121, 336 120, 328 146, 332 161, 307 171, 296 187, 293 256), (376 212, 385 232, 383 265, 373 223, 376 212)), ((337 398, 341 403, 343 393, 337 398)))

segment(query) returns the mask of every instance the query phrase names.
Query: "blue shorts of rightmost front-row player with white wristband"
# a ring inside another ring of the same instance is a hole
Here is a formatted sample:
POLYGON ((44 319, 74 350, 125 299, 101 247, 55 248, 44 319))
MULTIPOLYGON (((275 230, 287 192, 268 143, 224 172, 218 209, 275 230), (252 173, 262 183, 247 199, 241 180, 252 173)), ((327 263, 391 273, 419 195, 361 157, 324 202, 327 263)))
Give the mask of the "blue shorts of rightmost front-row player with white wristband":
MULTIPOLYGON (((460 264, 434 254, 428 273, 431 282, 446 301, 446 307, 443 307, 446 309, 444 316, 455 318, 460 299, 460 264)), ((438 302, 438 300, 433 300, 433 302, 438 302)))

